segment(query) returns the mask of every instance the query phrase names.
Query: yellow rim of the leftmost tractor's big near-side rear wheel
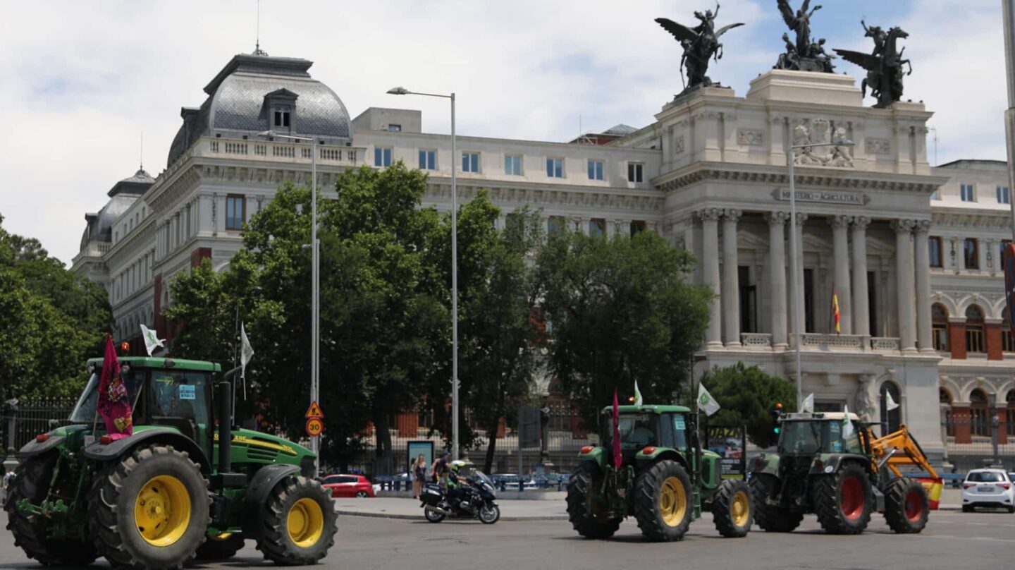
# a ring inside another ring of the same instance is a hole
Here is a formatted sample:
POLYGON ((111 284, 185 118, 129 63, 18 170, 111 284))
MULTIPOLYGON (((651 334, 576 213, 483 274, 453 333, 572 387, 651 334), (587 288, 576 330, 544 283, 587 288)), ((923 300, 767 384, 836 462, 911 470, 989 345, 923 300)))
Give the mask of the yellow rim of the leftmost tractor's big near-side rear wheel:
POLYGON ((176 544, 190 526, 190 494, 183 482, 173 476, 149 479, 134 501, 137 531, 154 547, 176 544))

